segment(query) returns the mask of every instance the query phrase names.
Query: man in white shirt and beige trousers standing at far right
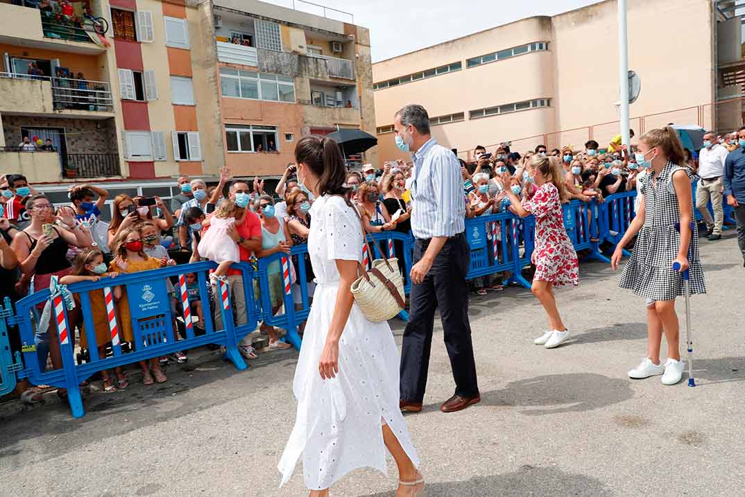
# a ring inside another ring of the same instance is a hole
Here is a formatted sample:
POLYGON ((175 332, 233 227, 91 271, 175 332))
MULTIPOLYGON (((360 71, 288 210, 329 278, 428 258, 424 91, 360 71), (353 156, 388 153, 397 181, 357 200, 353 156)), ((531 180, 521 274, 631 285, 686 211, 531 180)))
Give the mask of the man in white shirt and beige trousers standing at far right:
POLYGON ((699 152, 700 180, 696 187, 696 208, 706 222, 708 240, 720 240, 724 211, 722 208, 722 176, 724 174, 724 159, 727 149, 717 143, 717 137, 712 132, 703 135, 703 148, 699 152), (714 219, 708 211, 708 201, 714 208, 714 219))

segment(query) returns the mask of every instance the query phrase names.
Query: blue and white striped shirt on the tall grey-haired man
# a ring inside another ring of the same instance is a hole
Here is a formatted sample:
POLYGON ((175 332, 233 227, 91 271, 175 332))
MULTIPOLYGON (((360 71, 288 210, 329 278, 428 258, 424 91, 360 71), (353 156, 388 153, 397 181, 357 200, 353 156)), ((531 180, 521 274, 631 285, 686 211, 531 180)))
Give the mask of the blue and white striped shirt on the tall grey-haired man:
POLYGON ((411 182, 411 231, 416 238, 453 237, 466 229, 460 162, 430 138, 415 153, 411 182))

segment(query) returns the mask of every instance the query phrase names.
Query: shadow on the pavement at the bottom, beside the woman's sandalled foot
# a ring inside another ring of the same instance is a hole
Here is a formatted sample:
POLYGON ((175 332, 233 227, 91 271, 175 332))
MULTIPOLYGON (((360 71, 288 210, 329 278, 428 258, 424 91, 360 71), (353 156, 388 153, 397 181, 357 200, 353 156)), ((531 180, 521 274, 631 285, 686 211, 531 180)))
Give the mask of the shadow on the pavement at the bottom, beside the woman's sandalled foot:
MULTIPOLYGON (((395 492, 366 494, 370 497, 395 497, 395 492)), ((602 481, 586 475, 563 472, 556 467, 521 466, 516 472, 448 481, 427 485, 428 497, 508 497, 508 496, 613 496, 602 481)), ((362 497, 362 496, 360 496, 362 497)))

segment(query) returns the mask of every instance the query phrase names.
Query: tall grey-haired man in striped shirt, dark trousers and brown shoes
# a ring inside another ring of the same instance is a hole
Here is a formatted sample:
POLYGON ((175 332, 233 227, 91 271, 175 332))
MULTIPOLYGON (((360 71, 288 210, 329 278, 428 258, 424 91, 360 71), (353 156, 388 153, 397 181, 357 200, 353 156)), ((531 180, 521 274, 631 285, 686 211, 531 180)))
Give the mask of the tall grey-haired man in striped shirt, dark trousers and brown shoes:
POLYGON ((393 117, 396 146, 411 152, 411 231, 416 238, 411 268, 409 322, 401 351, 402 411, 422 410, 434 310, 440 307, 455 394, 440 410, 460 411, 478 403, 476 365, 468 318, 466 273, 470 255, 460 162, 431 138, 424 107, 408 105, 393 117))

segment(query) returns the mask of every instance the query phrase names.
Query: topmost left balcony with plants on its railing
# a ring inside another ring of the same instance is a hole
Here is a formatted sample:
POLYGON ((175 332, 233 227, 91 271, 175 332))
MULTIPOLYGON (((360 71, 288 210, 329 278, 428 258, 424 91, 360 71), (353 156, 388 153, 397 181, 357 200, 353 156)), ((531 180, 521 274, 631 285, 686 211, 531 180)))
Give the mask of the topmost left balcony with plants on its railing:
POLYGON ((89 19, 81 21, 61 14, 57 19, 57 13, 7 3, 0 3, 0 19, 8 20, 3 25, 3 43, 75 54, 106 51, 107 42, 96 32, 104 31, 104 26, 89 19))

